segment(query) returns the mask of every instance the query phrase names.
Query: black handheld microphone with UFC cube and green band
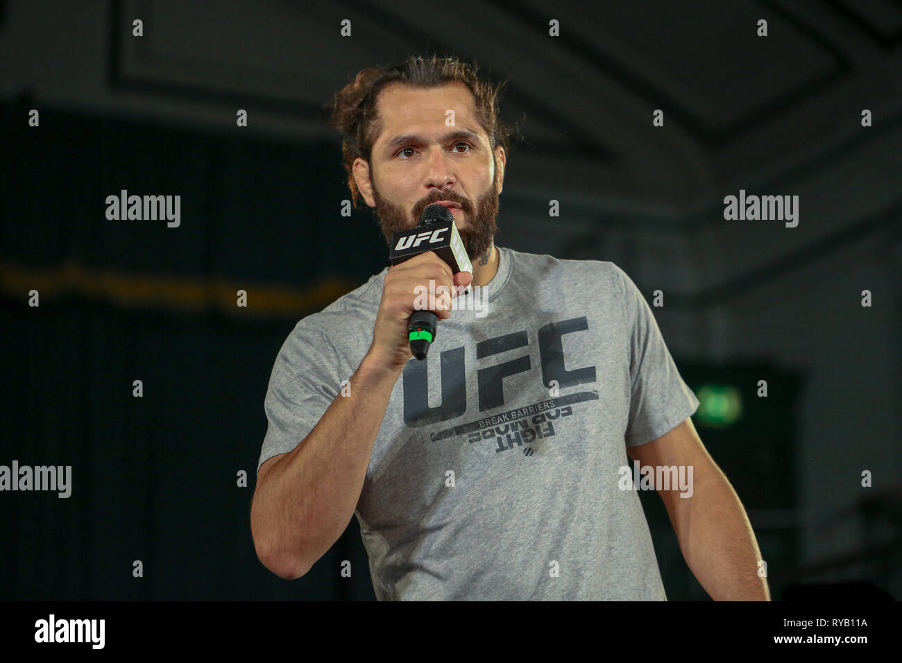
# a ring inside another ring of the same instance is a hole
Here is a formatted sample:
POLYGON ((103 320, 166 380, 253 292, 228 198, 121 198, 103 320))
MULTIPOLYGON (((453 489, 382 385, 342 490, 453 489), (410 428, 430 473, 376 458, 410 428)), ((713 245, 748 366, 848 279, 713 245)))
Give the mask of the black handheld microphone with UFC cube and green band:
MULTIPOLYGON (((428 205, 423 210, 417 227, 394 234, 389 260, 392 265, 396 265, 427 251, 434 251, 447 263, 452 273, 473 273, 470 256, 466 254, 464 242, 454 225, 454 215, 439 203, 428 205)), ((415 310, 410 314, 407 336, 410 352, 417 359, 426 359, 429 345, 436 340, 437 322, 437 315, 429 310, 415 310)))

